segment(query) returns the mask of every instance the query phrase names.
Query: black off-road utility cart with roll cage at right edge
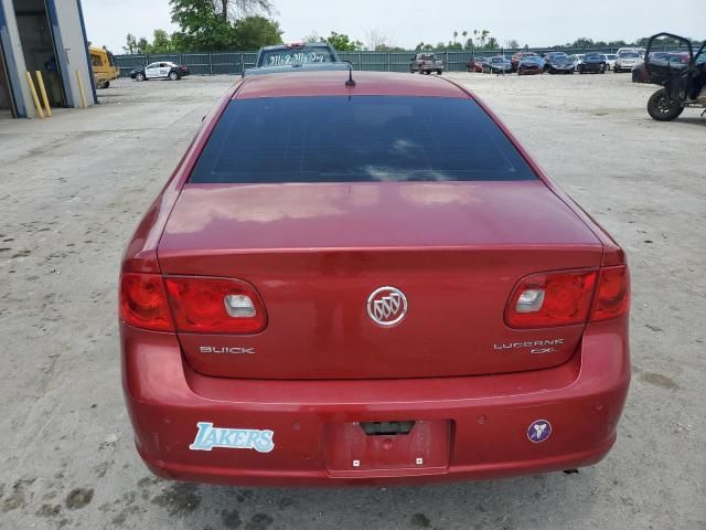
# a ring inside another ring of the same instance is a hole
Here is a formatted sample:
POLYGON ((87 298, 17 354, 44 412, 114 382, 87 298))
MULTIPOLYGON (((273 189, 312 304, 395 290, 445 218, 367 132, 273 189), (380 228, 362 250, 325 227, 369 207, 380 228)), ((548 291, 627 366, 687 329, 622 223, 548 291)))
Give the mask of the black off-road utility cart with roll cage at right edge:
POLYGON ((676 119, 684 108, 706 108, 706 41, 694 53, 692 42, 672 33, 657 33, 648 42, 644 70, 648 82, 662 86, 648 102, 648 113, 659 121, 676 119), (660 39, 678 41, 678 50, 668 57, 651 55, 660 39), (659 59, 657 59, 659 57, 659 59))

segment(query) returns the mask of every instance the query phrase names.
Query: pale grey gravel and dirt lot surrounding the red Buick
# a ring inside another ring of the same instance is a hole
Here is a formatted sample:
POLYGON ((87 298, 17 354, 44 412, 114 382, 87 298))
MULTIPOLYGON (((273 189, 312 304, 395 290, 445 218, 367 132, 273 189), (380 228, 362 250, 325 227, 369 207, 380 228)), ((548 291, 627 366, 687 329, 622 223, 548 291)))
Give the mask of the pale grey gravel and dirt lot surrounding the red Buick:
POLYGON ((629 75, 452 76, 629 253, 633 383, 603 463, 386 489, 152 478, 120 390, 119 257, 232 80, 121 80, 99 107, 0 120, 0 528, 705 529, 706 120, 652 121, 629 75))

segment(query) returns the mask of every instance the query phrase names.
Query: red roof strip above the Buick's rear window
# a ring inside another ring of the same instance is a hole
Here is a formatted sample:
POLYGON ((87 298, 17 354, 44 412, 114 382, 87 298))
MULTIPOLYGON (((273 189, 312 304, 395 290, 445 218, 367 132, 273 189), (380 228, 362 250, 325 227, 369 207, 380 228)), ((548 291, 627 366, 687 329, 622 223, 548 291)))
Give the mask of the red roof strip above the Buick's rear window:
POLYGON ((234 99, 292 96, 427 96, 470 98, 452 82, 426 75, 387 72, 353 72, 355 86, 345 82, 347 72, 300 72, 246 77, 234 99))

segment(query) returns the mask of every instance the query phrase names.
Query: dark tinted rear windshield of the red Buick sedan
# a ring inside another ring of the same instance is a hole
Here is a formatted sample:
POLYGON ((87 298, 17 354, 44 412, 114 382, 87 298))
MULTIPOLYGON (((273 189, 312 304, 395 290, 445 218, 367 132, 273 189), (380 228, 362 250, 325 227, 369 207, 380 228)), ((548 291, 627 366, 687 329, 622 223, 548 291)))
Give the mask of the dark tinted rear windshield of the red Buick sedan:
POLYGON ((535 178, 471 99, 320 96, 231 102, 190 182, 535 178))

